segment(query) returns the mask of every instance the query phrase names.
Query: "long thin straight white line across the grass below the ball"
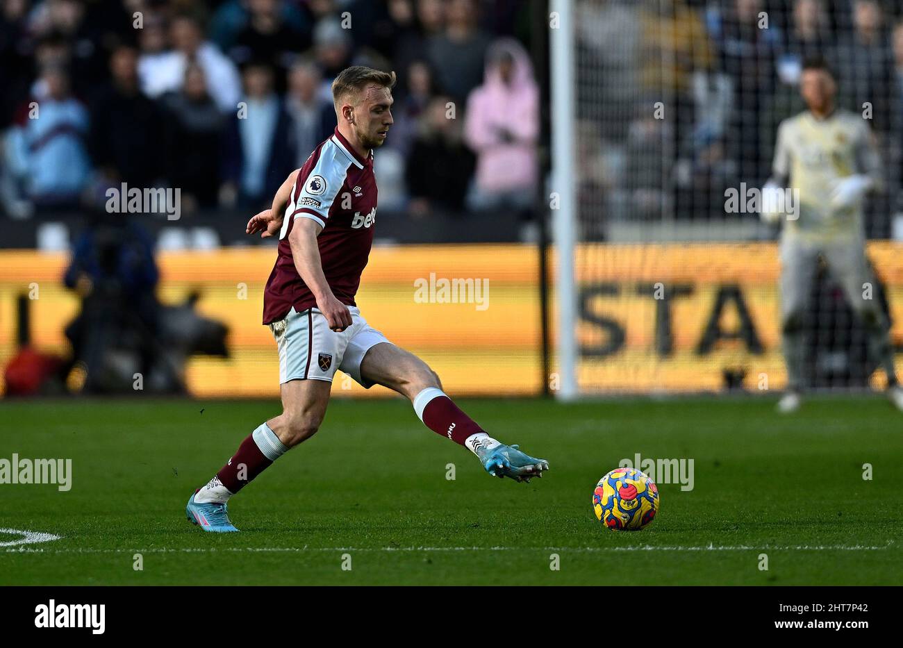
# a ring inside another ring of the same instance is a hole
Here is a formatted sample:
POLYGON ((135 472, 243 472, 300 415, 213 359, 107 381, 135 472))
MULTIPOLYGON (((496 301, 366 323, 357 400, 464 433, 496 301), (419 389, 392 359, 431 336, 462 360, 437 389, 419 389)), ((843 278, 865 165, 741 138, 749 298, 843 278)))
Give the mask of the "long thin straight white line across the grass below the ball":
MULTIPOLYGON (((46 542, 46 541, 45 541, 46 542)), ((19 549, 6 549, 6 553, 218 553, 218 552, 248 552, 248 553, 303 553, 307 551, 338 552, 338 551, 573 551, 577 553, 608 552, 608 551, 884 551, 893 545, 889 541, 885 545, 874 546, 865 544, 827 544, 827 545, 761 545, 759 547, 747 545, 698 545, 698 546, 655 546, 651 544, 630 545, 626 547, 182 547, 166 549, 156 547, 152 549, 33 549, 20 547, 19 549)))

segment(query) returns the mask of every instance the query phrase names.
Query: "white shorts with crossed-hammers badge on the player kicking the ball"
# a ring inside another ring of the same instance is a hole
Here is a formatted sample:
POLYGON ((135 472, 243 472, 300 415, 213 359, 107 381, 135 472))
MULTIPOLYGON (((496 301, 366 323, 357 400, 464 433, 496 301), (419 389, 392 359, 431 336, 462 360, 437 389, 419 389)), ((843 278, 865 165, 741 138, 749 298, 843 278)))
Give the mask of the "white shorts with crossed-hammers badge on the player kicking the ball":
POLYGON ((279 384, 290 380, 326 380, 340 369, 366 388, 373 386, 360 375, 360 363, 370 347, 388 342, 360 316, 357 306, 349 306, 351 326, 337 333, 330 330, 319 309, 289 311, 285 319, 272 322, 279 349, 279 384))

